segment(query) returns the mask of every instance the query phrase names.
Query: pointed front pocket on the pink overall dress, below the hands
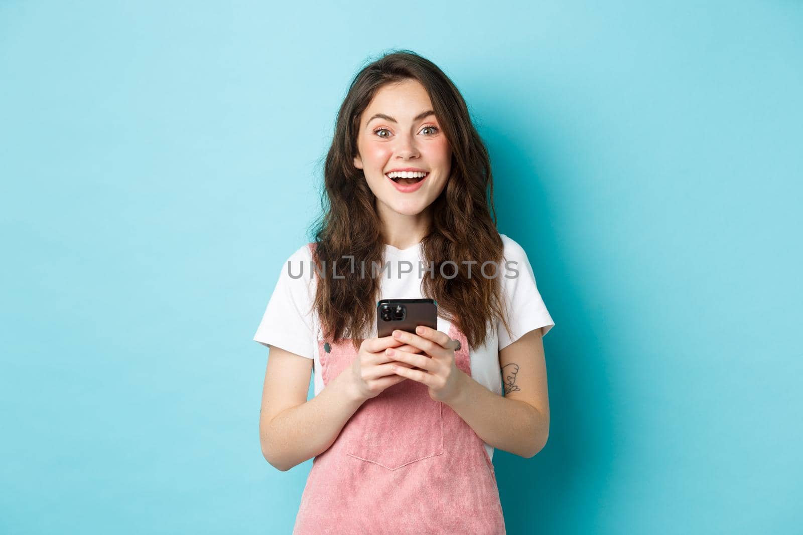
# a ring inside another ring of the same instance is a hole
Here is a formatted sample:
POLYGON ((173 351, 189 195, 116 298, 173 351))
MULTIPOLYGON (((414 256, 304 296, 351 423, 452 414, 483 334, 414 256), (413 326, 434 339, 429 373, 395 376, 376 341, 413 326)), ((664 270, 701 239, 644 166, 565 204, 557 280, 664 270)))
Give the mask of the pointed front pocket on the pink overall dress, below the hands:
POLYGON ((442 455, 442 407, 413 379, 385 388, 349 419, 346 453, 389 470, 442 455))

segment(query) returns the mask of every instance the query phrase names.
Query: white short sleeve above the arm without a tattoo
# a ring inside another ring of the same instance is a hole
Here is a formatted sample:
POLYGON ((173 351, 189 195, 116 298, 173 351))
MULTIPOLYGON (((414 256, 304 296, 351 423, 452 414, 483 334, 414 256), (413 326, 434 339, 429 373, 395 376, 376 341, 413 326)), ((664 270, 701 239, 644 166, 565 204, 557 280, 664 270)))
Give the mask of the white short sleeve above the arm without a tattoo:
POLYGON ((312 257, 308 250, 304 245, 282 265, 254 340, 312 359, 312 257))

